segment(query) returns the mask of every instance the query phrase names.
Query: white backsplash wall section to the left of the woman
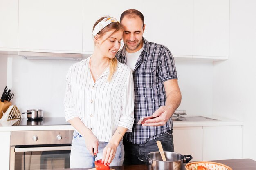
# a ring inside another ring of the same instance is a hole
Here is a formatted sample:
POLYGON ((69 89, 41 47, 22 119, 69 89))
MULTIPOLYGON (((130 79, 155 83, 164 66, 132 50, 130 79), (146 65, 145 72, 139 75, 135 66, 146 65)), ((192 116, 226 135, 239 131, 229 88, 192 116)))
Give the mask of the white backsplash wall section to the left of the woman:
MULTIPOLYGON (((7 87, 14 93, 11 102, 20 112, 43 109, 44 117, 64 117, 65 75, 76 61, 28 60, 17 55, 0 57, 7 58, 7 87)), ((1 66, 5 63, 1 62, 1 66)))

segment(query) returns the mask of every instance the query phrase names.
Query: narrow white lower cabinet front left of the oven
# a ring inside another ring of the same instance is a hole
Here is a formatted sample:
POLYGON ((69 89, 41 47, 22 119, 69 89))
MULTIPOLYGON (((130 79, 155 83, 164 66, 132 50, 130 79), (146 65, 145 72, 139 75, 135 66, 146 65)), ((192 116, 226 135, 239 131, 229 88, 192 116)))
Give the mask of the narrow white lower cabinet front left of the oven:
POLYGON ((11 132, 0 132, 0 165, 2 170, 9 170, 11 132))

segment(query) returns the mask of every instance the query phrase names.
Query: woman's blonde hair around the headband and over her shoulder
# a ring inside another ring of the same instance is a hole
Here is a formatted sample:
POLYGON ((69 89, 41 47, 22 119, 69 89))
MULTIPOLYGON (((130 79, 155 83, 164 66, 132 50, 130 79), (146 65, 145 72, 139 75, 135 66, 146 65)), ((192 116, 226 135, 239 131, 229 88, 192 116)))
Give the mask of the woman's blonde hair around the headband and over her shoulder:
MULTIPOLYGON (((97 20, 97 21, 95 22, 95 24, 94 24, 92 30, 94 30, 95 26, 96 26, 99 22, 101 22, 101 20, 103 20, 104 18, 106 18, 106 17, 101 17, 99 20, 97 20)), ((113 33, 117 32, 117 31, 119 31, 119 30, 123 31, 123 33, 124 33, 124 29, 123 29, 122 25, 121 25, 119 22, 111 22, 110 24, 108 24, 107 26, 105 26, 101 31, 99 31, 98 35, 99 35, 99 36, 102 36, 104 33, 108 32, 108 31, 111 31, 111 30, 115 30, 113 33)), ((113 33, 112 33, 112 34, 113 34, 113 33)), ((112 34, 111 34, 111 35, 112 35, 112 34)), ((110 36, 111 36, 111 35, 110 35, 110 36)), ((109 37, 110 37, 110 36, 109 36, 109 37)), ((109 38, 109 37, 108 37, 108 38, 109 38)), ((107 40, 108 38, 106 38, 105 40, 107 40)), ((102 42, 104 42, 105 40, 103 40, 102 42)), ((112 59, 109 58, 109 59, 108 59, 108 63, 109 63, 108 81, 110 82, 111 79, 112 79, 112 76, 114 75, 115 71, 117 70, 117 63, 118 63, 118 61, 117 61, 116 57, 114 57, 114 58, 112 58, 112 59)))

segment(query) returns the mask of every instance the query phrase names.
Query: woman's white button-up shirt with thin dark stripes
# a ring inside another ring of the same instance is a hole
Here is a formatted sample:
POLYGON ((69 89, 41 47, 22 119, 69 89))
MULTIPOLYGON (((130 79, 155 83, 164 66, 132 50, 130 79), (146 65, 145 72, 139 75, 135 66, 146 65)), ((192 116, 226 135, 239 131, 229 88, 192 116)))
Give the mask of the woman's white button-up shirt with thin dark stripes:
POLYGON ((94 83, 90 57, 73 64, 66 77, 66 121, 79 117, 100 142, 108 142, 117 126, 132 131, 134 88, 131 69, 118 62, 108 82, 109 68, 94 83))

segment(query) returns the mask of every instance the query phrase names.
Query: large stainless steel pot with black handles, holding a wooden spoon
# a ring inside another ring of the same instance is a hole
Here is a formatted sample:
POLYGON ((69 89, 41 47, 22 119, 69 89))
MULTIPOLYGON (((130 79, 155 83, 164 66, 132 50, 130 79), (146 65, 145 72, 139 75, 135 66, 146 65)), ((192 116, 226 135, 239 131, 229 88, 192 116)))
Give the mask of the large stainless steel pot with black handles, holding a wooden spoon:
MULTIPOLYGON (((148 161, 148 170, 184 170, 184 163, 188 163, 191 159, 191 155, 181 155, 175 152, 164 152, 166 161, 162 161, 160 152, 150 152, 146 156, 148 161)), ((139 158, 144 161, 144 159, 139 158)))

